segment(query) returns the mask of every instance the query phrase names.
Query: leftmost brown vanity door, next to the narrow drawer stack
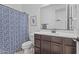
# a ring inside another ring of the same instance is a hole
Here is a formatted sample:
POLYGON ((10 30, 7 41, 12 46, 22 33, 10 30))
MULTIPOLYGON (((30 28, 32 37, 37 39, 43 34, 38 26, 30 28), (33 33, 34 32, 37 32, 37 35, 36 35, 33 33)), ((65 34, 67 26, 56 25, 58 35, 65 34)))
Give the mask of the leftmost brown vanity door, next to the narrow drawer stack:
POLYGON ((50 54, 50 42, 41 41, 41 53, 42 54, 50 54))

